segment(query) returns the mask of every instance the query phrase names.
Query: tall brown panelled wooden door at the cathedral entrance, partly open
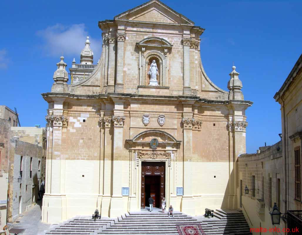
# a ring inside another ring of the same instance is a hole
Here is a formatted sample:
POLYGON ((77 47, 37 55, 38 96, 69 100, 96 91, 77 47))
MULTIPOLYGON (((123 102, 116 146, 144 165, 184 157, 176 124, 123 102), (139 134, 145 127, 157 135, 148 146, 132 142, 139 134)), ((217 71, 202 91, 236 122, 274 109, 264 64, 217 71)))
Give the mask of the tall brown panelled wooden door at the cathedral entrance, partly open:
POLYGON ((160 208, 165 197, 165 163, 142 162, 141 178, 141 208, 149 206, 150 197, 154 200, 153 207, 160 208))

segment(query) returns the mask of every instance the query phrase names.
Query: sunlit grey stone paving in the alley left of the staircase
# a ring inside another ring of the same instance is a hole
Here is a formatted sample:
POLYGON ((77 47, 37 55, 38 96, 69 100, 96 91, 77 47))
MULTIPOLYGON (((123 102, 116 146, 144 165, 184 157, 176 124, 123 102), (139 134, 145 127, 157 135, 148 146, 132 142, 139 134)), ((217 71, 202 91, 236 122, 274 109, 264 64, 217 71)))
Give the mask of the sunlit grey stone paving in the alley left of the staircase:
MULTIPOLYGON (((23 213, 23 216, 18 217, 12 224, 8 224, 9 230, 12 228, 24 229, 20 235, 43 235, 51 228, 51 224, 41 222, 41 203, 34 205, 29 211, 23 213), (17 222, 19 221, 19 223, 17 222)), ((54 224, 53 226, 57 226, 54 224)), ((12 235, 14 233, 11 233, 12 235)))

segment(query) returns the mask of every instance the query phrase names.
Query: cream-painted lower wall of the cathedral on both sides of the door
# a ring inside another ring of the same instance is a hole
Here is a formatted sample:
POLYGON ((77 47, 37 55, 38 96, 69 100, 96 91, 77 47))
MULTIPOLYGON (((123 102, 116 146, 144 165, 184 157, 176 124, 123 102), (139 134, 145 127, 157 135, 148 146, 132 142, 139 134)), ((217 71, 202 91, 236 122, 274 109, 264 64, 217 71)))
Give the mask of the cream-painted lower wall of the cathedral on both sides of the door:
MULTIPOLYGON (((135 177, 130 177, 130 162, 119 162, 120 164, 116 166, 120 169, 113 171, 111 161, 104 164, 103 161, 96 160, 52 160, 52 169, 49 171, 52 175, 47 179, 55 179, 59 185, 53 185, 52 182, 46 184, 51 187, 51 191, 46 190, 43 198, 42 221, 59 223, 76 215, 92 215, 96 208, 102 212, 102 216, 108 217, 120 216, 130 211, 130 208, 132 211, 140 211, 139 168, 134 168, 131 175, 134 174, 135 177), (61 169, 65 169, 64 174, 61 169), (112 172, 119 174, 120 182, 116 184, 118 188, 111 180, 112 172), (61 178, 58 179, 58 175, 61 175, 61 178), (131 192, 131 197, 121 196, 121 187, 131 189, 130 184, 136 185, 133 187, 132 196, 131 192), (113 190, 117 195, 111 197, 113 190), (136 206, 133 206, 135 204, 136 206)), ((47 165, 50 163, 47 161, 47 165)), ((136 165, 136 162, 133 161, 132 164, 136 165)), ((183 173, 183 163, 172 162, 170 175, 168 176, 166 172, 165 178, 167 203, 172 204, 176 211, 184 211, 191 215, 204 214, 205 208, 226 208, 223 205, 227 204, 228 200, 229 163, 186 162, 186 164, 187 169, 191 170, 188 173, 191 188, 183 185, 183 179, 186 177, 183 173), (183 186, 184 197, 176 196, 176 187, 183 186), (168 188, 170 197, 167 197, 168 188), (191 192, 191 195, 187 197, 186 192, 191 192), (184 208, 185 203, 189 210, 184 208)))

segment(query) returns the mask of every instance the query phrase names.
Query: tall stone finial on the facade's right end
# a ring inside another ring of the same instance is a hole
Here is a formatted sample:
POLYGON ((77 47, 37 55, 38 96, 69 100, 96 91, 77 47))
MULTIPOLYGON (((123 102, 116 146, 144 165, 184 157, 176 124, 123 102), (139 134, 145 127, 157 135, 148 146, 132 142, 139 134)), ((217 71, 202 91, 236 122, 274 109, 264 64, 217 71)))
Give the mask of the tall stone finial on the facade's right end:
POLYGON ((237 72, 236 66, 232 67, 233 71, 229 74, 231 76, 230 81, 227 84, 229 92, 229 100, 243 100, 243 94, 240 91, 242 89, 242 82, 239 79, 239 72, 237 72))

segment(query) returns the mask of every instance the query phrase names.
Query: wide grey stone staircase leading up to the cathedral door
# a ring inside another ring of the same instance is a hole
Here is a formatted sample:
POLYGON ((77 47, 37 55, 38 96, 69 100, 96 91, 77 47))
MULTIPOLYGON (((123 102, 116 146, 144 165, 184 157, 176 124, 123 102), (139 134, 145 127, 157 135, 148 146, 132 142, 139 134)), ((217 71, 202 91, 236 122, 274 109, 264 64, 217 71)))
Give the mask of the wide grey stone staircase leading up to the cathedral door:
POLYGON ((242 211, 218 209, 214 217, 192 217, 182 212, 175 212, 168 217, 160 211, 129 212, 116 219, 91 217, 73 218, 53 227, 46 234, 120 234, 120 235, 179 235, 176 225, 200 223, 205 234, 247 235, 249 225, 242 211))

